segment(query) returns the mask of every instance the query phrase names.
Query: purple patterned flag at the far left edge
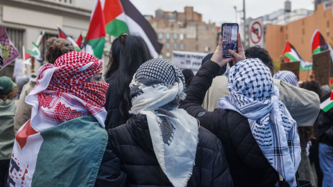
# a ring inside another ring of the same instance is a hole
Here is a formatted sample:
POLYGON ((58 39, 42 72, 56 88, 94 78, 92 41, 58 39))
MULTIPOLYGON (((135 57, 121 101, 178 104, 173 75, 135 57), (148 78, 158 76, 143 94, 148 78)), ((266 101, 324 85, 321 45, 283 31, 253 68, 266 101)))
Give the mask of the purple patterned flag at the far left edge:
POLYGON ((12 44, 12 41, 7 35, 6 26, 0 27, 0 44, 2 48, 2 57, 3 57, 3 64, 1 65, 1 69, 6 67, 10 62, 13 62, 17 57, 19 57, 19 51, 17 48, 12 44))

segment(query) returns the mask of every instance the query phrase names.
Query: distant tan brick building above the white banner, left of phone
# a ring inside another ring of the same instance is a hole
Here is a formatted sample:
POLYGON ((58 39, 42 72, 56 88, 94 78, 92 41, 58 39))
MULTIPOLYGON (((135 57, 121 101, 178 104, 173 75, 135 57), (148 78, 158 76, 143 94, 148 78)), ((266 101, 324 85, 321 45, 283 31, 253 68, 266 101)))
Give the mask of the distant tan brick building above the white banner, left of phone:
POLYGON ((172 62, 172 51, 210 53, 216 48, 215 24, 203 22, 202 15, 193 7, 185 7, 185 12, 155 11, 155 17, 148 17, 157 33, 159 42, 164 44, 160 57, 172 62))

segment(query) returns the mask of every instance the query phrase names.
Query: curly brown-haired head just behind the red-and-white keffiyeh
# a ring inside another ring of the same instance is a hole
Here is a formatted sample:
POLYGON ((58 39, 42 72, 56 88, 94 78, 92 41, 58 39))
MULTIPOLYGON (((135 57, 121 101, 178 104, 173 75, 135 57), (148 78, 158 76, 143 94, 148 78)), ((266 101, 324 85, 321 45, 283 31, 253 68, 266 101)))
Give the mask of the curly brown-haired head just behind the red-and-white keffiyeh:
POLYGON ((65 53, 75 51, 75 48, 71 42, 67 39, 60 37, 51 37, 46 40, 46 61, 53 64, 58 57, 65 53))

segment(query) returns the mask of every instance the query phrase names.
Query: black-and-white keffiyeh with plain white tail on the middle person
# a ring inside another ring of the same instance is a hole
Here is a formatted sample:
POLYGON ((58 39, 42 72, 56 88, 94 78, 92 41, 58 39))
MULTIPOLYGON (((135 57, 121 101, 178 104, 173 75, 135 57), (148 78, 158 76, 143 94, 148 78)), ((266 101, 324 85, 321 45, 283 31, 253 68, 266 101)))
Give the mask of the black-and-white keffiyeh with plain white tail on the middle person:
POLYGON ((198 145, 198 121, 178 109, 185 78, 167 60, 142 64, 130 82, 131 114, 145 114, 157 161, 173 186, 186 186, 198 145))

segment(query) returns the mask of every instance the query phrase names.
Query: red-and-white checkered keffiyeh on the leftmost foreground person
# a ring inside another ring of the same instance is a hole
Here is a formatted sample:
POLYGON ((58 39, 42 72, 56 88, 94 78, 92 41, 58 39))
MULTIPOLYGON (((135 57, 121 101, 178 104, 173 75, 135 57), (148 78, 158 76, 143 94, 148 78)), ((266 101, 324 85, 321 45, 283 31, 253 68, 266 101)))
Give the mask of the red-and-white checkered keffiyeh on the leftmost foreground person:
POLYGON ((102 127, 103 108, 108 84, 85 82, 103 69, 103 61, 78 51, 58 57, 53 64, 44 64, 37 75, 37 85, 26 97, 33 105, 31 126, 46 130, 80 116, 94 116, 102 127))

